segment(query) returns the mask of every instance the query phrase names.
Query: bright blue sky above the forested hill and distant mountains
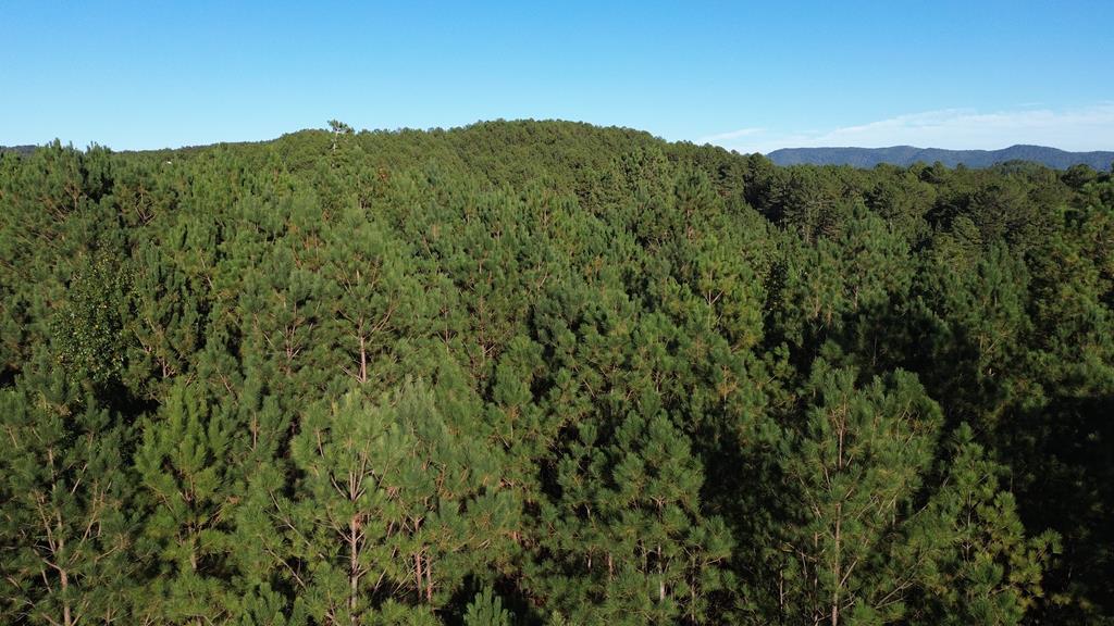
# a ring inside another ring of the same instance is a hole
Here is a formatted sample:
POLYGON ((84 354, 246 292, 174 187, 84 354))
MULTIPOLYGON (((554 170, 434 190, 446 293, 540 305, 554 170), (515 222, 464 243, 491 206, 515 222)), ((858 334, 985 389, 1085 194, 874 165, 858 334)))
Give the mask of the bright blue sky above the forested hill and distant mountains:
POLYGON ((0 144, 574 119, 740 151, 1114 149, 1114 1, 0 0, 0 144))

